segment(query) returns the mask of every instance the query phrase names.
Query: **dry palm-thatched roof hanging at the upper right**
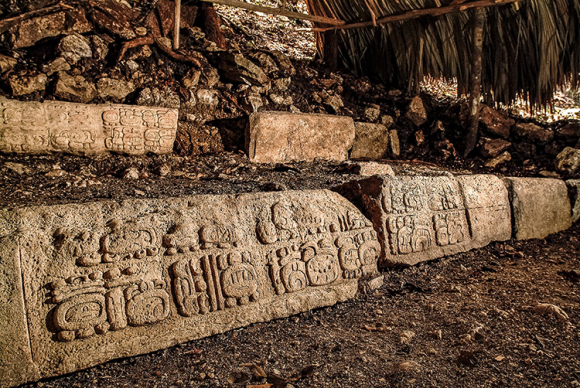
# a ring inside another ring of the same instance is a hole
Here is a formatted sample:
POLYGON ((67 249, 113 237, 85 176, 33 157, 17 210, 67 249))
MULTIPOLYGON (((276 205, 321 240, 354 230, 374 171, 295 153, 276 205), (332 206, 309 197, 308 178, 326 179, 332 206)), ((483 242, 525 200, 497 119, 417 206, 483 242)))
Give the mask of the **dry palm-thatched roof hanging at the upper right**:
MULTIPOLYGON (((311 14, 347 23, 458 0, 306 0, 311 14), (371 12, 372 10, 372 12, 371 12)), ((469 4, 475 0, 463 1, 469 4)), ((339 63, 359 75, 413 90, 424 75, 457 78, 468 90, 472 11, 421 17, 376 27, 336 30, 339 63)), ((483 94, 509 103, 522 96, 545 105, 580 71, 580 1, 522 0, 485 8, 483 94)), ((319 48, 324 35, 319 35, 319 48)))

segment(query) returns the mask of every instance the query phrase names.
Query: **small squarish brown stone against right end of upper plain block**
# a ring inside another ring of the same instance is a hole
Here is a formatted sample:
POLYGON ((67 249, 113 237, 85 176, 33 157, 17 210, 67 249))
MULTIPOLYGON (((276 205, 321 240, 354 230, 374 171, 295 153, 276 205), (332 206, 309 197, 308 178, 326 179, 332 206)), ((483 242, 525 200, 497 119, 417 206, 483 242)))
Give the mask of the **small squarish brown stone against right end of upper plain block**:
POLYGON ((351 159, 380 159, 389 150, 389 130, 382 124, 354 123, 355 138, 351 159))

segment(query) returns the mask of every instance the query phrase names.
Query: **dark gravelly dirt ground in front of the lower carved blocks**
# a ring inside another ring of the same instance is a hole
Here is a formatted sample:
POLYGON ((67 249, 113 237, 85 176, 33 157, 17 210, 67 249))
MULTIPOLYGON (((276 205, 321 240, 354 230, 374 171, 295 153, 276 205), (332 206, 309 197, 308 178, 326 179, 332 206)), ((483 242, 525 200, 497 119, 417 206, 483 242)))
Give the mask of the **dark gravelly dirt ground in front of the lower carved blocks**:
POLYGON ((26 386, 580 386, 580 224, 384 277, 334 307, 26 386))

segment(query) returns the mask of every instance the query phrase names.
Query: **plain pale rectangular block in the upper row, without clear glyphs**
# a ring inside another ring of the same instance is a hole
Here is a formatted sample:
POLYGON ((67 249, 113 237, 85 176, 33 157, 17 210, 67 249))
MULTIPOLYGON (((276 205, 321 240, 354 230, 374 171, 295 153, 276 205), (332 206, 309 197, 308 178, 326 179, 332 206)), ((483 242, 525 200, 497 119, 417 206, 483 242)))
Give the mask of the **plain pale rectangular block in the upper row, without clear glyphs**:
POLYGON ((354 136, 350 117, 257 112, 250 115, 246 148, 256 163, 344 161, 354 136))

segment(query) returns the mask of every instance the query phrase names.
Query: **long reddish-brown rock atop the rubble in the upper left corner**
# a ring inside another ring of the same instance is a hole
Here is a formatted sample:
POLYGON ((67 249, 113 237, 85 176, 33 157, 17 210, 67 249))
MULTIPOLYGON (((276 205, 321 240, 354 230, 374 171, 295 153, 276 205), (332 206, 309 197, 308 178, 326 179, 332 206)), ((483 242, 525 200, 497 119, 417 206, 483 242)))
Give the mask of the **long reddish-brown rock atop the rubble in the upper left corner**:
POLYGON ((67 10, 29 20, 23 20, 8 31, 13 49, 35 45, 59 35, 84 34, 92 26, 81 10, 67 10))

